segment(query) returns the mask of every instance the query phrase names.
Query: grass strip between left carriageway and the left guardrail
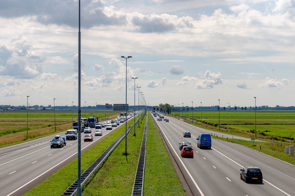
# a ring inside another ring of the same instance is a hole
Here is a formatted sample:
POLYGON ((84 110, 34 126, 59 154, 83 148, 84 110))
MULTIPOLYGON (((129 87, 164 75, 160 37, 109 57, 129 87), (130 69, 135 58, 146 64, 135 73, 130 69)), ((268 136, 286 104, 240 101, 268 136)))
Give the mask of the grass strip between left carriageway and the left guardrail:
MULTIPOLYGON (((130 126, 133 123, 133 119, 127 122, 127 127, 130 126)), ((138 128, 137 128, 138 129, 138 128)), ((89 150, 86 150, 84 153, 81 154, 81 174, 106 150, 106 148, 109 147, 122 133, 125 131, 125 126, 122 126, 118 128, 116 131, 102 139, 99 143, 94 145, 89 150)), ((132 135, 132 130, 129 132, 132 135)), ((127 141, 131 140, 130 135, 127 135, 127 141), (129 136, 129 137, 128 137, 129 136)), ((96 136, 97 138, 99 136, 96 136)), ((137 137, 137 136, 136 136, 137 137)), ((125 139, 121 141, 120 144, 124 144, 124 150, 125 150, 125 139)), ((128 152, 129 152, 129 146, 128 152)), ((116 150, 115 148, 114 150, 116 150)), ((122 150, 120 151, 122 153, 122 150)), ((111 153, 112 155, 113 153, 111 153)), ((120 156, 124 157, 122 154, 119 154, 120 156)), ((130 156, 130 155, 128 155, 130 156)), ((131 155, 132 156, 132 155, 131 155)), ((108 158, 109 159, 109 158, 108 158)), ((107 159, 107 160, 108 160, 107 159)), ((138 157, 137 157, 138 159, 138 157)), ((117 160, 116 160, 117 161, 117 160)), ((128 160, 129 161, 129 160, 128 160)), ((99 167, 99 170, 104 167, 104 163, 99 167)), ((108 169, 108 168, 106 168, 108 169)), ((132 168, 134 169, 134 168, 132 168)), ((136 170, 136 168, 135 168, 136 170)), ((70 163, 62 167, 60 170, 55 172, 53 175, 48 177, 46 180, 32 188, 29 192, 25 193, 24 196, 29 195, 39 195, 39 196, 52 196, 52 195, 60 195, 62 194, 73 182, 78 178, 78 158, 72 160, 70 163)), ((135 176, 135 175, 134 175, 135 176)), ((134 180, 133 176, 133 180, 134 180)), ((106 177, 106 176, 104 176, 106 177)), ((133 185, 133 184, 132 184, 133 185)), ((106 185, 108 186, 108 185, 106 185)), ((82 187, 84 189, 84 187, 82 187)), ((99 188, 99 187, 96 187, 99 188)), ((121 189, 121 185, 118 185, 118 189, 121 189)), ((132 190, 132 187, 131 187, 132 190)), ((130 193, 131 194, 131 193, 130 193)))

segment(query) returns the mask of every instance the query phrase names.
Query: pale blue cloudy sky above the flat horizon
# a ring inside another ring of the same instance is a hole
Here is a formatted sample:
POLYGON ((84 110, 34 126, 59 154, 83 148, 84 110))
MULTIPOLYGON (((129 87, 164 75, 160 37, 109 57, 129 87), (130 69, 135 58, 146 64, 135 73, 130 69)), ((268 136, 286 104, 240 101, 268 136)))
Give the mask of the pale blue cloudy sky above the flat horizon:
MULTIPOLYGON (((81 105, 294 105, 295 1, 81 0, 81 105), (138 89, 136 89, 138 103, 138 89)), ((78 1, 2 0, 0 104, 78 105, 78 1)))

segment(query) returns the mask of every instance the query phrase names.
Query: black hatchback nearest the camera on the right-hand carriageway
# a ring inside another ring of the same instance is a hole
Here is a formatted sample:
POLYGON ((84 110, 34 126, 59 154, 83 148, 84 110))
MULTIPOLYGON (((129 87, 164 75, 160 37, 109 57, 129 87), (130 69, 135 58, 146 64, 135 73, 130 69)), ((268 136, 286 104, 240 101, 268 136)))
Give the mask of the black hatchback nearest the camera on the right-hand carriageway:
POLYGON ((258 167, 245 167, 241 169, 240 174, 241 180, 245 180, 245 182, 258 182, 262 183, 262 172, 258 167))

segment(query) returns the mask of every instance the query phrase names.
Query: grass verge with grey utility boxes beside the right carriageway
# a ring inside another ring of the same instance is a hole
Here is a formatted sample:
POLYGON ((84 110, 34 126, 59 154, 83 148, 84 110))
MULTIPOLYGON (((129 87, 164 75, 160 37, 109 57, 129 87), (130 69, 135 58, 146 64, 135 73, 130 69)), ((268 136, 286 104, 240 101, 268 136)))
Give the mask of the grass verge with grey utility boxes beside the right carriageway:
POLYGON ((281 159, 283 161, 286 161, 288 163, 295 165, 295 156, 285 153, 285 147, 289 146, 289 145, 293 146, 294 143, 254 141, 254 145, 253 145, 253 141, 238 140, 238 139, 231 139, 231 138, 227 139, 227 138, 222 138, 220 136, 217 137, 214 135, 212 135, 211 137, 217 138, 220 140, 225 140, 225 141, 232 142, 232 143, 242 144, 242 145, 247 146, 249 148, 253 148, 254 150, 258 150, 262 153, 265 153, 267 155, 271 155, 275 158, 281 159), (278 144, 280 144, 281 147, 278 147, 278 144), (261 146, 261 150, 260 150, 260 146, 261 146))

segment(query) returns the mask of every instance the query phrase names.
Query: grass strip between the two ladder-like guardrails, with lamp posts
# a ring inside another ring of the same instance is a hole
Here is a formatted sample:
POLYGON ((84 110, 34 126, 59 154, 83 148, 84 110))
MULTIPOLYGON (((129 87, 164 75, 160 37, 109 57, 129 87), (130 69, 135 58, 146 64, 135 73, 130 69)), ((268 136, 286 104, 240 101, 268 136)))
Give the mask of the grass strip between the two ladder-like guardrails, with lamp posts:
MULTIPOLYGON (((140 120, 139 120, 140 123, 140 120)), ((134 127, 127 135, 127 154, 125 153, 125 139, 113 150, 99 170, 89 178, 89 182, 82 187, 82 195, 131 195, 135 172, 140 155, 145 118, 138 128, 136 136, 134 127)))

